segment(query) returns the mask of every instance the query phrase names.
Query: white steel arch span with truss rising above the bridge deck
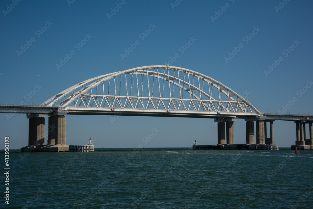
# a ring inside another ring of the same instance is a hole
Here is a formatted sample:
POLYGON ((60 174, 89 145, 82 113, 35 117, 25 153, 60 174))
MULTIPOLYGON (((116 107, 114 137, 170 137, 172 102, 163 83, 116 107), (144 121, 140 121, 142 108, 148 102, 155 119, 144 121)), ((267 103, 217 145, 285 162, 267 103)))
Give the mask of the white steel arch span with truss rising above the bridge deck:
MULTIPOLYGON (((185 68, 150 65, 80 82, 41 104, 68 112, 177 113, 258 116, 238 93, 213 78, 185 68)), ((110 113, 111 114, 111 113, 110 113)))

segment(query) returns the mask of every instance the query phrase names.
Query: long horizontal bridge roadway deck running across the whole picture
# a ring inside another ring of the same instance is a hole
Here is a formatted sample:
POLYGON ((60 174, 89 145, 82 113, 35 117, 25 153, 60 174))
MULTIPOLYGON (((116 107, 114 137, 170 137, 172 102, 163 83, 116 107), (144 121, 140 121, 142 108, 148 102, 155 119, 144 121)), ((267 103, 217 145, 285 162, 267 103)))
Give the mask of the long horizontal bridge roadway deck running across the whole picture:
POLYGON ((313 122, 313 115, 290 114, 257 114, 244 112, 207 112, 207 111, 183 111, 183 110, 143 110, 143 109, 115 109, 99 107, 47 107, 41 105, 7 105, 0 104, 0 113, 26 113, 55 115, 63 112, 65 115, 116 115, 125 116, 154 116, 154 117, 183 117, 183 118, 264 118, 265 120, 305 121, 313 122))

